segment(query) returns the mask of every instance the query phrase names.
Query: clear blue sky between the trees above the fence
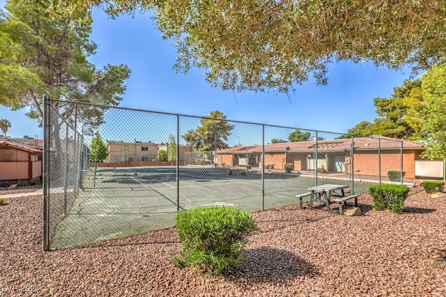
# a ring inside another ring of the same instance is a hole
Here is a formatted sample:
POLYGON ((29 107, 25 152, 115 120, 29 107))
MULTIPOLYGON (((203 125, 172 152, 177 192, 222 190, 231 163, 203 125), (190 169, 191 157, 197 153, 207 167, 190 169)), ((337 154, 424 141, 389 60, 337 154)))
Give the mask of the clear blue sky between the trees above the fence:
MULTIPOLYGON (((187 115, 220 110, 230 120, 346 132, 363 120, 373 121, 373 99, 390 97, 394 87, 410 79, 408 69, 333 63, 328 86, 317 86, 310 80, 298 86, 291 98, 274 92, 233 93, 209 86, 201 69, 175 74, 173 42, 160 37, 149 15, 109 19, 95 10, 93 21, 91 40, 98 49, 90 61, 98 68, 107 63, 130 67, 132 73, 125 83, 127 91, 120 106, 133 109, 187 115)), ((26 118, 24 111, 13 112, 0 106, 0 118, 11 122, 8 136, 43 138, 43 130, 35 120, 26 118)))

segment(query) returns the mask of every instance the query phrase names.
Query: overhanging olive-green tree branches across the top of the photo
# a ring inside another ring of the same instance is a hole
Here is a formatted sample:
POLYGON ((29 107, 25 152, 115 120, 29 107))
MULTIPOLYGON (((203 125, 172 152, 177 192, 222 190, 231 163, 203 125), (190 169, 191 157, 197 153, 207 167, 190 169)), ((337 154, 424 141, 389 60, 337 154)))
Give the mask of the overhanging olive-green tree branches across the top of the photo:
POLYGON ((446 61, 446 2, 438 0, 38 0, 47 14, 85 17, 154 10, 156 27, 174 39, 177 71, 206 70, 206 81, 231 90, 288 93, 328 63, 372 61, 426 70, 446 61))

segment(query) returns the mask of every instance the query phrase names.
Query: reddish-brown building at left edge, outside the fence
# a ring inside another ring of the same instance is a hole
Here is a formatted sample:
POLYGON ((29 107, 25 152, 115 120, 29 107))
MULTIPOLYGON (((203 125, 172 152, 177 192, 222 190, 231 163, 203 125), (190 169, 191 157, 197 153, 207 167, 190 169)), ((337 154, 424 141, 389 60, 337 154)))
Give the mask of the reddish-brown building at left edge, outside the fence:
POLYGON ((42 178, 43 147, 22 138, 0 138, 0 180, 42 178))

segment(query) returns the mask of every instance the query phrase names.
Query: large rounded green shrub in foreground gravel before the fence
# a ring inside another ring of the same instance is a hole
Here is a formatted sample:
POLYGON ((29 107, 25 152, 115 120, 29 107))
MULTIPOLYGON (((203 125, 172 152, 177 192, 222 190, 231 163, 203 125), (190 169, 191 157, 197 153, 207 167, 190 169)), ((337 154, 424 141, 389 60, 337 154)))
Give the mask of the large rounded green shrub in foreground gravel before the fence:
POLYGON ((183 245, 178 267, 230 273, 243 259, 247 236, 257 230, 251 214, 236 207, 198 207, 180 211, 176 230, 183 245))

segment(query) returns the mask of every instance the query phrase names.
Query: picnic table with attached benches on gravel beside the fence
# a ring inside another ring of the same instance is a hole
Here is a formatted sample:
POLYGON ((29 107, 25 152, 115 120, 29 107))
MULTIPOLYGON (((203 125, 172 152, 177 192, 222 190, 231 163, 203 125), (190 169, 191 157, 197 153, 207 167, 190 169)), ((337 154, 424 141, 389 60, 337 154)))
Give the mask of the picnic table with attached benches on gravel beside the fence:
POLYGON ((303 208, 302 198, 310 196, 308 209, 312 209, 313 202, 321 202, 325 203, 328 212, 332 214, 343 214, 343 205, 347 205, 347 200, 355 199, 355 207, 357 207, 357 196, 360 195, 345 195, 345 188, 348 188, 348 186, 342 184, 322 184, 320 186, 311 186, 307 188, 308 190, 310 190, 310 192, 296 195, 296 197, 299 198, 301 209, 303 208), (334 198, 334 202, 338 202, 339 204, 338 211, 332 211, 332 209, 330 208, 330 202, 332 202, 332 198, 334 198))

